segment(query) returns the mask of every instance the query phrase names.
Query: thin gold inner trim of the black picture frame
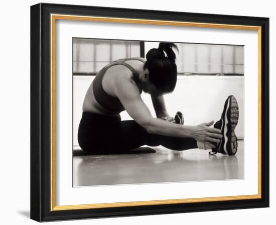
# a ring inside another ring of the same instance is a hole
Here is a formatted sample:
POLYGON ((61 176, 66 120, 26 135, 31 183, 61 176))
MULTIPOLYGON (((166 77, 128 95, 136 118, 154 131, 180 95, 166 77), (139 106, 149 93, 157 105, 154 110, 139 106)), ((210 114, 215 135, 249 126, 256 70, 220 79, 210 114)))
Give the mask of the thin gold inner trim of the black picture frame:
POLYGON ((51 123, 50 124, 51 124, 51 171, 50 171, 51 173, 51 199, 50 199, 51 211, 261 198, 261 27, 230 25, 230 24, 192 23, 192 22, 177 22, 177 21, 163 21, 163 20, 140 20, 140 19, 51 14, 51 123), (55 190, 56 190, 56 185, 55 185, 55 179, 56 179, 56 176, 55 176, 55 77, 56 77, 55 25, 56 25, 56 20, 75 20, 75 21, 93 21, 93 22, 98 21, 98 22, 109 22, 109 23, 151 24, 151 25, 169 25, 169 26, 257 31, 258 32, 258 194, 221 196, 221 197, 203 197, 203 198, 166 199, 166 200, 152 200, 152 201, 130 201, 130 202, 114 202, 114 203, 78 204, 78 205, 55 205, 55 200, 56 200, 56 195, 55 195, 55 190))

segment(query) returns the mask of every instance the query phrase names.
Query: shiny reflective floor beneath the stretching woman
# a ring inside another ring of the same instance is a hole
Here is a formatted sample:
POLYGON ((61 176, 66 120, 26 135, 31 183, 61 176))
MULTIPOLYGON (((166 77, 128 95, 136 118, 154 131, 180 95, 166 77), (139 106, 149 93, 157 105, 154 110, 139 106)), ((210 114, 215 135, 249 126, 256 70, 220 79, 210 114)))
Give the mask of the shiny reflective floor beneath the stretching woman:
POLYGON ((163 146, 142 149, 142 153, 137 149, 131 154, 74 156, 74 186, 243 179, 243 141, 238 141, 235 156, 163 146))

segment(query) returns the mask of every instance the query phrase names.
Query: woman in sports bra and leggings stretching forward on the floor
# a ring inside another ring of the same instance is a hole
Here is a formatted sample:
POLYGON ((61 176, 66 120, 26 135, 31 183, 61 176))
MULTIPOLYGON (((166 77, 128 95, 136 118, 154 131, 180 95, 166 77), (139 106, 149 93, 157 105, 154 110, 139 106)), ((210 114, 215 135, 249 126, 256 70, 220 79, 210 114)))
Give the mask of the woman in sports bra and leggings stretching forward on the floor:
POLYGON ((143 145, 162 145, 172 150, 212 149, 211 154, 234 155, 238 105, 230 95, 220 120, 198 126, 182 125, 183 119, 167 113, 164 97, 177 82, 174 43, 160 43, 141 57, 119 59, 103 67, 90 84, 83 102, 78 128, 82 150, 94 154, 128 151, 143 145), (165 54, 166 53, 166 54, 165 54), (151 94, 157 118, 141 98, 151 94), (126 110, 133 120, 121 121, 126 110), (181 121, 182 120, 182 121, 181 121), (180 121, 180 122, 179 122, 180 121))

